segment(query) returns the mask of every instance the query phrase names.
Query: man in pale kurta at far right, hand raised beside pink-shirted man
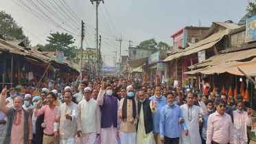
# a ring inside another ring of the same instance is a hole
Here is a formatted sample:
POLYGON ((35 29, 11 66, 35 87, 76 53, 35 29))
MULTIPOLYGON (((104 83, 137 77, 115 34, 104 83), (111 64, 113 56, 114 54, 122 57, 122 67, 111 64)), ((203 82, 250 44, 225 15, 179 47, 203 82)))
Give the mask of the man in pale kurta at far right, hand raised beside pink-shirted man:
POLYGON ((247 139, 247 126, 251 126, 251 109, 248 109, 247 112, 243 110, 243 102, 238 100, 235 101, 235 107, 237 110, 233 111, 233 143, 234 144, 246 144, 247 139))

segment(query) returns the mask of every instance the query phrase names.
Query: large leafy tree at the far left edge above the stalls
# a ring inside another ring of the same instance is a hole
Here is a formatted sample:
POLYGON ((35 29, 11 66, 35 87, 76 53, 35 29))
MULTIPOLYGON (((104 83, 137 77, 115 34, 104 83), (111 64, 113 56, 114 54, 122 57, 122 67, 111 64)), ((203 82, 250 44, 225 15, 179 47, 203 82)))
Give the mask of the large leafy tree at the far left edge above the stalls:
POLYGON ((23 33, 22 27, 16 24, 10 14, 2 10, 0 11, 0 34, 3 34, 6 40, 21 40, 26 46, 30 45, 30 40, 23 33))

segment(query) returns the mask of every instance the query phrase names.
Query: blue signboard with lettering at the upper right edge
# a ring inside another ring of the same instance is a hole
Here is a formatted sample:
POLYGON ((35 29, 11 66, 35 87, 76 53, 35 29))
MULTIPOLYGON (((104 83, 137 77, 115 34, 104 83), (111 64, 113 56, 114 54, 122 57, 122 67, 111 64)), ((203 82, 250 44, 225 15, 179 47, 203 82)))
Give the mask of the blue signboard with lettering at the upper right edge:
POLYGON ((245 42, 251 42, 256 40, 256 16, 246 20, 246 38, 245 42))

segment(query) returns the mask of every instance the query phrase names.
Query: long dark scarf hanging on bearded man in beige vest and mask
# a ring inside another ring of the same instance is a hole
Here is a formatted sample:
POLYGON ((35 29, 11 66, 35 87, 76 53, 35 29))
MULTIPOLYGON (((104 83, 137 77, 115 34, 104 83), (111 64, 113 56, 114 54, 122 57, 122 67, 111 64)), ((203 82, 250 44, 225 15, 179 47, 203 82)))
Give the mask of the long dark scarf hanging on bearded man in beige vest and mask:
POLYGON ((123 103, 123 107, 122 107, 122 120, 126 123, 127 121, 127 99, 132 99, 132 117, 133 119, 135 119, 136 117, 136 104, 135 104, 135 99, 134 97, 128 97, 126 95, 126 97, 124 97, 124 103, 123 103))

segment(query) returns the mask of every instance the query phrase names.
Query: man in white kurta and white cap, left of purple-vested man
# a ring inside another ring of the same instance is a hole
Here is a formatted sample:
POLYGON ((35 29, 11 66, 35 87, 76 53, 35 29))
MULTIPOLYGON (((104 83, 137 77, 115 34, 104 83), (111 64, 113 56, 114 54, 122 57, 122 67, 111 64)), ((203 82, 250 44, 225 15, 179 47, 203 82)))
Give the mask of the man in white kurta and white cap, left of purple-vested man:
POLYGON ((91 99, 91 88, 84 88, 84 99, 78 104, 77 144, 94 144, 96 134, 100 134, 100 108, 91 99))

